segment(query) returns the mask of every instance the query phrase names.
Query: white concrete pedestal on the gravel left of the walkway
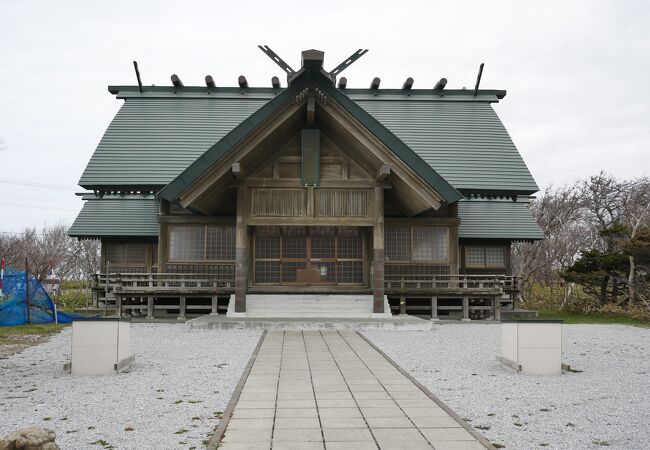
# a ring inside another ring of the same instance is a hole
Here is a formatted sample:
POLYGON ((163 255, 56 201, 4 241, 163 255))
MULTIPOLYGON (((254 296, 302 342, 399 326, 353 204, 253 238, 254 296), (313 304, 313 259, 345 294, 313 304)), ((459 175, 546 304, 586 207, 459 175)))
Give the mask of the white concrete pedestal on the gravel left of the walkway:
POLYGON ((131 322, 123 319, 77 319, 72 322, 73 375, 111 375, 128 366, 131 322))

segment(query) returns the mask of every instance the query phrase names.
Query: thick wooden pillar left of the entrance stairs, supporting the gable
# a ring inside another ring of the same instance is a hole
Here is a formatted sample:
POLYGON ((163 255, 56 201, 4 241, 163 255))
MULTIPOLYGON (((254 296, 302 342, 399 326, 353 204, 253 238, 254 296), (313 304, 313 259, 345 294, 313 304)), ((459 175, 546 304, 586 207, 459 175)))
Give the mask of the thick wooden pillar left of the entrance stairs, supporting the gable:
POLYGON ((247 189, 237 188, 237 219, 235 222, 235 312, 246 312, 248 290, 248 230, 246 226, 247 189))

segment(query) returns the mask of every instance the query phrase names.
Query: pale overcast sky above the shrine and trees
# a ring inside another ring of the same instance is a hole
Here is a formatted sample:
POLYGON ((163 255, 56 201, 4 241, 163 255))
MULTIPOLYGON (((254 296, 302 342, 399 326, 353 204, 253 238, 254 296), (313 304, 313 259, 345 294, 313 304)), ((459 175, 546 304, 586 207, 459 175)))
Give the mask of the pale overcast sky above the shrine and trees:
MULTIPOLYGON (((495 109, 540 186, 605 169, 650 172, 647 1, 0 2, 0 232, 72 223, 77 182, 122 101, 109 84, 252 86, 325 51, 333 68, 358 48, 349 87, 506 89, 495 109), (16 184, 7 181, 20 180, 16 184), (40 183, 44 186, 34 186, 40 183)), ((286 79, 280 77, 284 82, 286 79)))

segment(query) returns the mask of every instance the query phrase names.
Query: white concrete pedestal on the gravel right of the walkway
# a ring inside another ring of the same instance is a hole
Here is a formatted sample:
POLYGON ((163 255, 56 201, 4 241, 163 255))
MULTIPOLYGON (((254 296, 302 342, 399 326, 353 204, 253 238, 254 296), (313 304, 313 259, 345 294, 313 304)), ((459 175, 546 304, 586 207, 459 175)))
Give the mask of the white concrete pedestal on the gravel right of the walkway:
POLYGON ((562 373, 561 320, 504 320, 501 337, 505 365, 524 375, 562 373))

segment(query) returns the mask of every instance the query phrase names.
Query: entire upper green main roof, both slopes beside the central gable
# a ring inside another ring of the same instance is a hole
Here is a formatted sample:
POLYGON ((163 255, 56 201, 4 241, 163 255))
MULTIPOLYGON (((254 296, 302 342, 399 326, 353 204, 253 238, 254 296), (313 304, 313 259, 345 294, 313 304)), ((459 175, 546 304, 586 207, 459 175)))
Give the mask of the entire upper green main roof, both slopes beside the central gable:
MULTIPOLYGON (((79 184, 164 186, 237 125, 286 89, 116 86, 126 99, 79 184)), ((455 189, 539 190, 490 103, 505 91, 346 89, 352 100, 455 189)), ((343 95, 345 94, 345 95, 343 95)))

